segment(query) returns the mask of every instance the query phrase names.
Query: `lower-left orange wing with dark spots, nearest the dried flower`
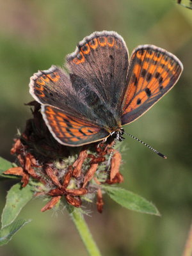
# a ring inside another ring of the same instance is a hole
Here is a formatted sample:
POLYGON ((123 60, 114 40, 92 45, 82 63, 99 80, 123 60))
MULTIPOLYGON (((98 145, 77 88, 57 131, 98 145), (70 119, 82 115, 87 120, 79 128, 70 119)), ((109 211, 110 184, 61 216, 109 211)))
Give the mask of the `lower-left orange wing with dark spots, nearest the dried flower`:
POLYGON ((52 136, 63 145, 76 147, 109 136, 109 132, 101 127, 68 115, 59 108, 42 105, 42 115, 52 136))

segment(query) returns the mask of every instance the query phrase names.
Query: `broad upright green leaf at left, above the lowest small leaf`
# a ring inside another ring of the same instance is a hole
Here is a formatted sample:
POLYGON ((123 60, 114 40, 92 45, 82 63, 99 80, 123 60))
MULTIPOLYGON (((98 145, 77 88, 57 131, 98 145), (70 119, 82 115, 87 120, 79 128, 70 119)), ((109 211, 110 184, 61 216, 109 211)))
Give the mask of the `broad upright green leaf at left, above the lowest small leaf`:
POLYGON ((28 185, 25 188, 21 188, 19 183, 12 186, 6 196, 6 204, 1 216, 2 228, 10 225, 10 223, 15 220, 22 207, 24 207, 32 197, 33 192, 31 191, 31 186, 28 185))

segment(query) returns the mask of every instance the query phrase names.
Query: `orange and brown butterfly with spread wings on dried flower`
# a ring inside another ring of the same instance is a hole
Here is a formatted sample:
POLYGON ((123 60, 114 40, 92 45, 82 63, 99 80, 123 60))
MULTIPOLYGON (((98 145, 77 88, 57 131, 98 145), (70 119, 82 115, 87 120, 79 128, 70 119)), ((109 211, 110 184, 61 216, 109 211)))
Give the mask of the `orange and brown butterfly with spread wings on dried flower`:
POLYGON ((66 58, 68 73, 52 65, 33 74, 29 92, 61 144, 77 147, 109 136, 122 140, 122 125, 143 115, 177 82, 182 63, 154 45, 140 45, 129 60, 114 31, 86 36, 66 58))

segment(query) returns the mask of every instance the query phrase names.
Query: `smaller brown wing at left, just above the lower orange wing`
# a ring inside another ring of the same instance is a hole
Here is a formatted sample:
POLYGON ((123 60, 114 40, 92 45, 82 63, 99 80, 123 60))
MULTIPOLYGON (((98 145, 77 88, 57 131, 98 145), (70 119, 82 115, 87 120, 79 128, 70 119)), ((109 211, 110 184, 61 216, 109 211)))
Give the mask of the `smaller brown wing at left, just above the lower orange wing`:
MULTIPOLYGON (((84 87, 84 84, 81 83, 80 86, 84 87)), ((31 77, 29 88, 33 98, 40 104, 65 109, 69 115, 86 117, 93 123, 97 122, 94 111, 89 108, 77 90, 74 90, 70 77, 63 68, 52 66, 49 70, 38 71, 31 77)))

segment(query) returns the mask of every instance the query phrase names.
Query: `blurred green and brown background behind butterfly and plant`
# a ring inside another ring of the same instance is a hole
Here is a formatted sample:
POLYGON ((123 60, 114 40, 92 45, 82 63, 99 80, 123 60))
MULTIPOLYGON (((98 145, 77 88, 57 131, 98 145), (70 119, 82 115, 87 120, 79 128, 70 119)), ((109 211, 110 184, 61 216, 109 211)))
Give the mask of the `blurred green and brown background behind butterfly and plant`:
MULTIPOLYGON (((0 3, 0 156, 10 156, 17 129, 31 117, 29 77, 62 65, 66 54, 93 31, 122 35, 131 52, 155 44, 182 61, 179 83, 148 113, 125 130, 168 156, 164 160, 127 138, 122 147, 124 188, 152 201, 162 216, 131 212, 105 197, 104 212, 86 217, 102 255, 181 255, 192 207, 192 10, 173 0, 6 0, 0 3)), ((1 183, 1 209, 10 182, 1 183)), ((40 212, 33 200, 21 218, 33 221, 0 248, 1 256, 84 256, 86 251, 66 211, 40 212)))

